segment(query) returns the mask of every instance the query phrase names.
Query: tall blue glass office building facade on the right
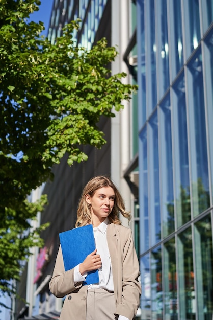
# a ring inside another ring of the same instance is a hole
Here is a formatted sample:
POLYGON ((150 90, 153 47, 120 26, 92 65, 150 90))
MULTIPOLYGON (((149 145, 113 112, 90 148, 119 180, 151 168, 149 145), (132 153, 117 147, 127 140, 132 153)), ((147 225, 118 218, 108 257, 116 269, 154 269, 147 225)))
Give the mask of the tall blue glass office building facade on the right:
POLYGON ((212 320, 213 1, 138 0, 142 320, 212 320))

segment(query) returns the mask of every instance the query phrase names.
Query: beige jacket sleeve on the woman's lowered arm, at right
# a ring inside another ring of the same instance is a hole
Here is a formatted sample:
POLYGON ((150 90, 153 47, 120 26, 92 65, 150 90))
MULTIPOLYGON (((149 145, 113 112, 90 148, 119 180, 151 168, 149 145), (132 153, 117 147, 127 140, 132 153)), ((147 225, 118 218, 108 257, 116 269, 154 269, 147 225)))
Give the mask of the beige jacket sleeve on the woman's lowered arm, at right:
POLYGON ((134 319, 140 305, 141 284, 139 262, 130 229, 126 229, 126 237, 122 237, 120 241, 121 250, 123 248, 122 297, 115 313, 134 319))

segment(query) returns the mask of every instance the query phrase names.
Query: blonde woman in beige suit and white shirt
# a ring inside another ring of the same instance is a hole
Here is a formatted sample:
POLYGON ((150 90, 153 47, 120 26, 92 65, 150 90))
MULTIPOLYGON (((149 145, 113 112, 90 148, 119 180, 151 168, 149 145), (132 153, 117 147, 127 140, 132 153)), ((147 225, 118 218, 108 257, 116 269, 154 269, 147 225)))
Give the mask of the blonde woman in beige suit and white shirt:
POLYGON ((66 296, 60 320, 132 320, 140 302, 139 263, 123 199, 105 176, 89 180, 78 204, 76 227, 93 225, 96 249, 82 263, 65 272, 61 246, 50 291, 66 296), (87 273, 98 269, 99 283, 82 285, 87 273))

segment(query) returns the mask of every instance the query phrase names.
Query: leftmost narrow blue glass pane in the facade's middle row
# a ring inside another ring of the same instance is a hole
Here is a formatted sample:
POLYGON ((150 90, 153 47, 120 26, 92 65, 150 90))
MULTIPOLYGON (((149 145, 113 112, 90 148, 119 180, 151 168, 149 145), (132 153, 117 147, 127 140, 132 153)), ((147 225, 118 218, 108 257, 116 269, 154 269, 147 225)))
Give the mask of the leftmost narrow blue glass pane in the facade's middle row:
POLYGON ((147 187, 147 132, 146 128, 140 134, 139 145, 140 170, 140 252, 149 248, 149 220, 148 220, 148 187, 147 187))

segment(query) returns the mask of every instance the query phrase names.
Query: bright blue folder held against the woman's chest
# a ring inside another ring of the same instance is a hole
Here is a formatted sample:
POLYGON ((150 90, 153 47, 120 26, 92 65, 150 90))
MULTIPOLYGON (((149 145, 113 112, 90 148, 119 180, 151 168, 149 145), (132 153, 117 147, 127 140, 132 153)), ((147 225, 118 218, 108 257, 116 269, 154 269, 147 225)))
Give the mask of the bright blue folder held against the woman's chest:
MULTIPOLYGON (((74 268, 95 250, 92 224, 59 234, 65 271, 74 268)), ((98 270, 89 271, 83 285, 99 283, 98 270)))

